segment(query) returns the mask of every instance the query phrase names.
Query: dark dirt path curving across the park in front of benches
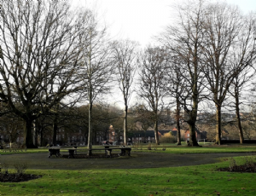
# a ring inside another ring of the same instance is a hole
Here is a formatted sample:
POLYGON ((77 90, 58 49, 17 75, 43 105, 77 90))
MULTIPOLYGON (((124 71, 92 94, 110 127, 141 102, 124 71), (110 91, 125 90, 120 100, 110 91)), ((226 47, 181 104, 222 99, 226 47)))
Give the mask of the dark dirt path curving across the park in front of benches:
POLYGON ((48 153, 11 154, 0 156, 2 164, 13 168, 14 164, 26 163, 28 169, 44 170, 91 170, 91 169, 141 169, 212 164, 219 158, 256 155, 256 153, 208 153, 208 154, 168 154, 131 153, 131 157, 113 159, 63 159, 48 158, 48 153))

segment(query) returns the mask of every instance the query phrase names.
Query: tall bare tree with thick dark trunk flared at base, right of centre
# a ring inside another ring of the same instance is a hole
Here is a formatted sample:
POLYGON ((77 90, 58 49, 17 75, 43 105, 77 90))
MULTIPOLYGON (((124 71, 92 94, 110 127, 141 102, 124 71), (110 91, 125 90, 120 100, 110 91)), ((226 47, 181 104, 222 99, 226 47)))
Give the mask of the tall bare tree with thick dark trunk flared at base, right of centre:
POLYGON ((189 124, 189 146, 198 146, 195 122, 203 90, 201 43, 204 31, 201 20, 205 13, 203 0, 188 0, 183 5, 177 5, 177 22, 167 26, 166 31, 158 37, 160 43, 179 60, 179 74, 186 84, 178 100, 185 111, 184 120, 189 124))

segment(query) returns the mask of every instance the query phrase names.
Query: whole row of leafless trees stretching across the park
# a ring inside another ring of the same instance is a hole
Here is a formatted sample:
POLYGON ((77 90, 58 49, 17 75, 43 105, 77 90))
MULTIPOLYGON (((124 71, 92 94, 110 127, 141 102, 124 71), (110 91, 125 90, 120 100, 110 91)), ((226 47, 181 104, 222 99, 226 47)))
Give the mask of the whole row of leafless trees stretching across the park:
POLYGON ((160 111, 166 108, 175 111, 178 144, 185 123, 188 145, 198 146, 198 115, 207 112, 215 112, 217 144, 222 143, 225 112, 236 113, 234 124, 244 141, 241 107, 253 108, 254 101, 255 13, 242 14, 222 1, 183 1, 173 8, 172 23, 155 36, 155 45, 140 49, 131 40, 111 40, 94 10, 73 9, 70 3, 1 4, 0 114, 14 126, 2 125, 4 131, 24 127, 26 147, 37 147, 35 135, 43 143, 49 131, 55 143, 62 126, 70 131, 79 126, 90 149, 95 130, 113 124, 98 103, 119 92, 125 108, 120 130, 127 143, 128 106, 136 91, 137 107, 150 113, 157 144, 160 111))

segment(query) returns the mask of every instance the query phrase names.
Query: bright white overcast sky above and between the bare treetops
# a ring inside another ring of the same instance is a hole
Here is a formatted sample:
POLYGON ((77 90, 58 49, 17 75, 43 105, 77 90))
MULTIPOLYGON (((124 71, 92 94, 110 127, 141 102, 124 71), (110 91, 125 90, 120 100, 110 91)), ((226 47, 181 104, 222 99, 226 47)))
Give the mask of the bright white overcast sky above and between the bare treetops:
MULTIPOLYGON (((95 6, 114 39, 130 38, 142 46, 172 21, 172 5, 180 0, 72 0, 74 5, 95 6)), ((256 10, 256 0, 227 0, 245 13, 256 10)))

